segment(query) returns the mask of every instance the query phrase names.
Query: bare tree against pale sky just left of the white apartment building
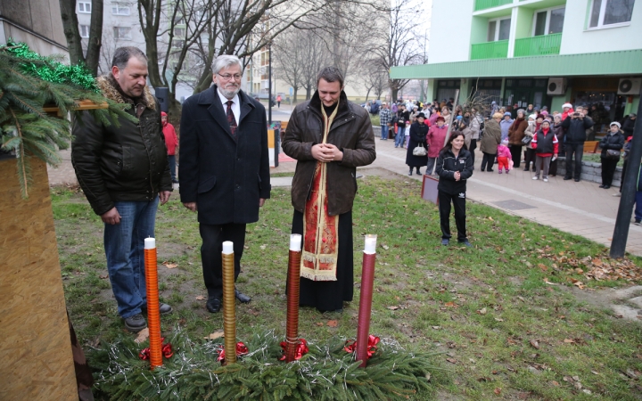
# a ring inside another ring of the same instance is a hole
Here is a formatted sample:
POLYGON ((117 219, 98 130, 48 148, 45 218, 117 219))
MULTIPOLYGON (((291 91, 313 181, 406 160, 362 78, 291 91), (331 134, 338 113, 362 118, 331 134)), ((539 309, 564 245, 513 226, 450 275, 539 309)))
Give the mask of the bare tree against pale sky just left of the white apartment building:
MULTIPOLYGON (((380 46, 378 53, 379 62, 384 70, 391 67, 415 64, 420 61, 421 46, 416 39, 415 32, 420 29, 419 20, 415 11, 402 0, 393 0, 390 10, 389 37, 384 46, 380 46)), ((409 79, 389 78, 388 86, 391 89, 391 100, 397 100, 399 90, 407 85, 409 79)))

